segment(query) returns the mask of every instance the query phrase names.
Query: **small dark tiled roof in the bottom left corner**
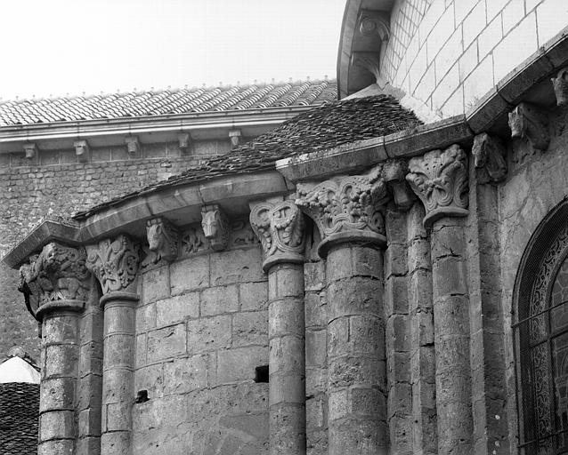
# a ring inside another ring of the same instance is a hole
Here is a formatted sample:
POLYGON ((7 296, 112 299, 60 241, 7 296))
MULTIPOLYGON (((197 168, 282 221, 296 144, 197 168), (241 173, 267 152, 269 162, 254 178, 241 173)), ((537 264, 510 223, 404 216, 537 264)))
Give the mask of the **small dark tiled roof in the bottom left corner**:
POLYGON ((39 384, 0 384, 0 453, 37 453, 39 384))

